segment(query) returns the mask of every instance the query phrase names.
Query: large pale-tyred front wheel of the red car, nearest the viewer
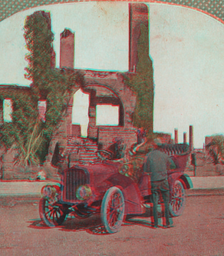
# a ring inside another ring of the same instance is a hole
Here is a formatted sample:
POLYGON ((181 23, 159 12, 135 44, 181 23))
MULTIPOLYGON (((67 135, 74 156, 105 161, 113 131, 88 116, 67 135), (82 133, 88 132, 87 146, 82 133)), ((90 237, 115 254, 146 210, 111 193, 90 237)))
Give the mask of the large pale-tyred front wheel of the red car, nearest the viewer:
POLYGON ((124 219, 124 195, 119 188, 109 188, 104 194, 100 217, 108 233, 120 231, 124 219))

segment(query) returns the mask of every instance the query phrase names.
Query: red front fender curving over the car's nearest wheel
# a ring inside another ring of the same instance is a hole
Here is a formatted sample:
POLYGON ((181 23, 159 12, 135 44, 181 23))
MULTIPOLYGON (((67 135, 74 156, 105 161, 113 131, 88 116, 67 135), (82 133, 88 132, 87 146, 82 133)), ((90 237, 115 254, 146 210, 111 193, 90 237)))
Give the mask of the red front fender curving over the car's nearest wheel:
POLYGON ((129 177, 120 174, 114 174, 108 178, 110 186, 120 188, 124 194, 125 212, 124 214, 143 214, 141 207, 141 195, 137 184, 129 177))

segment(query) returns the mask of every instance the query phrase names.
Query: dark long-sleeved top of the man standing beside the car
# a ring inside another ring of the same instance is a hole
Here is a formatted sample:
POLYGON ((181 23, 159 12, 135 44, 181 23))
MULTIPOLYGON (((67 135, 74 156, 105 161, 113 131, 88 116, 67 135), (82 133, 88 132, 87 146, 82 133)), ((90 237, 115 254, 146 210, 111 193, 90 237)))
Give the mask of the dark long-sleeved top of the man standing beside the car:
POLYGON ((153 150, 146 155, 143 171, 150 173, 151 181, 162 181, 167 178, 167 168, 174 169, 176 165, 165 153, 153 150))

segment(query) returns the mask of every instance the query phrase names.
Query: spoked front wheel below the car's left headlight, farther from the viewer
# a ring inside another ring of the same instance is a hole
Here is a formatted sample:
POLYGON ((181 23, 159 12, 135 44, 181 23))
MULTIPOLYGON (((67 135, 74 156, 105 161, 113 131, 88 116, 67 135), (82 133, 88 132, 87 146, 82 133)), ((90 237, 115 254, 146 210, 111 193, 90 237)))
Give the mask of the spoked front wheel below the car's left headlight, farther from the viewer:
POLYGON ((58 204, 56 201, 49 201, 41 198, 39 202, 39 214, 41 220, 44 221, 48 227, 55 227, 61 225, 66 218, 68 208, 63 204, 58 204))

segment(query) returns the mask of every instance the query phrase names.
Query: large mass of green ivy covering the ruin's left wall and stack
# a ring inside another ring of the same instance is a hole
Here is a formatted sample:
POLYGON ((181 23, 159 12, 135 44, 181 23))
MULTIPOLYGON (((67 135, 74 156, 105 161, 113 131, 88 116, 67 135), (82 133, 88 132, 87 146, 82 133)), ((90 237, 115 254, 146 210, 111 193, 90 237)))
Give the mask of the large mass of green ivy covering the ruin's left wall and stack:
POLYGON ((50 15, 35 12, 25 20, 25 42, 28 67, 25 78, 31 80, 31 88, 8 90, 1 99, 13 102, 12 123, 5 123, 0 130, 3 147, 18 148, 19 165, 38 165, 48 153, 48 145, 55 128, 64 115, 74 90, 84 82, 78 71, 53 68, 51 55, 54 35, 51 32, 50 15), (47 101, 46 121, 38 118, 38 100, 47 101))

